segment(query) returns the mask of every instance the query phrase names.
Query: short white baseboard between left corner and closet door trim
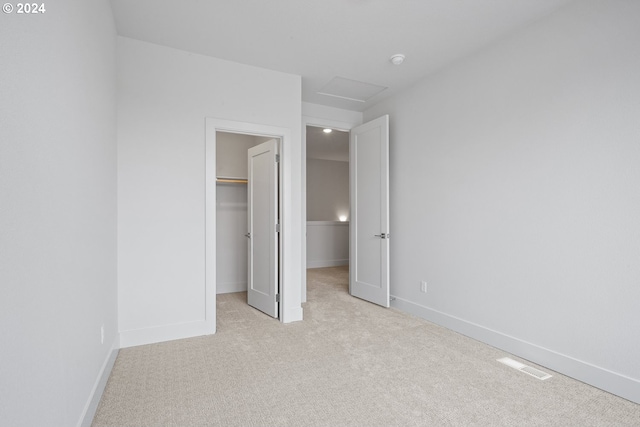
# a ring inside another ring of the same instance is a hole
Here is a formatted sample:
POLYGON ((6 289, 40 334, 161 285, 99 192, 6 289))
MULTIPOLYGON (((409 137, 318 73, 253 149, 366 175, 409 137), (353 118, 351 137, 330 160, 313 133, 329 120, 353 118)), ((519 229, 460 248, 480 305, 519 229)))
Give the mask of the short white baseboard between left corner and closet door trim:
POLYGON ((120 331, 120 348, 199 337, 215 333, 215 324, 200 320, 145 329, 120 331))

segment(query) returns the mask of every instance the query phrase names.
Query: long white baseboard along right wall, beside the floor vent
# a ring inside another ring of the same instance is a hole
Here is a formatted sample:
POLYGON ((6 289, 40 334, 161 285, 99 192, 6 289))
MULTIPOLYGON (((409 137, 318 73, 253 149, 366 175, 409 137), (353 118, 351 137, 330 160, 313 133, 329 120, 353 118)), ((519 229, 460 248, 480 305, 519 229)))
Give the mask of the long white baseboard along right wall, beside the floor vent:
POLYGON ((637 379, 399 297, 392 297, 391 306, 632 402, 640 403, 640 381, 637 379))

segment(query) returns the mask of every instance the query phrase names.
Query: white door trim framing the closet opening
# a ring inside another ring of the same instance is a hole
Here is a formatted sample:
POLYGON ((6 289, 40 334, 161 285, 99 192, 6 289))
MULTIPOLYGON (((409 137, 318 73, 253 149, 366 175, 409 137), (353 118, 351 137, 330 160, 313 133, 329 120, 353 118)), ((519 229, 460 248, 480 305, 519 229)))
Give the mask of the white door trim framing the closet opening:
POLYGON ((293 139, 289 128, 238 122, 214 117, 205 119, 205 321, 208 333, 216 332, 216 132, 240 133, 280 139, 280 322, 289 323, 302 320, 302 306, 297 278, 293 277, 294 247, 292 236, 293 215, 291 212, 291 186, 285 180, 291 169, 291 152, 293 139))

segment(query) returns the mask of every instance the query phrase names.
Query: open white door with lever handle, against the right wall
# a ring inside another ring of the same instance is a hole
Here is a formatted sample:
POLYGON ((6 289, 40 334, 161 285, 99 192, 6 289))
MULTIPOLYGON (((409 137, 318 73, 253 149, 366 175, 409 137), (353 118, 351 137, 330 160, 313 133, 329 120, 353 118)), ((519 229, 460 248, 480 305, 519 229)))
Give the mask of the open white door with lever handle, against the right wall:
POLYGON ((351 130, 349 292, 389 307, 389 116, 351 130))

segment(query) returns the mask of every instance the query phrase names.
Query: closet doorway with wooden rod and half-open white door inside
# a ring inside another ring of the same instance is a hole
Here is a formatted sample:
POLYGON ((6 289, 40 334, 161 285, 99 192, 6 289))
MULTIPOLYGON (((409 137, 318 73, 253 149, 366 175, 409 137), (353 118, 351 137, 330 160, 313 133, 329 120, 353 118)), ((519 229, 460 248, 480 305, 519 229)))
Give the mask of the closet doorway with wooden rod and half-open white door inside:
POLYGON ((216 294, 278 318, 280 140, 216 132, 216 294))

